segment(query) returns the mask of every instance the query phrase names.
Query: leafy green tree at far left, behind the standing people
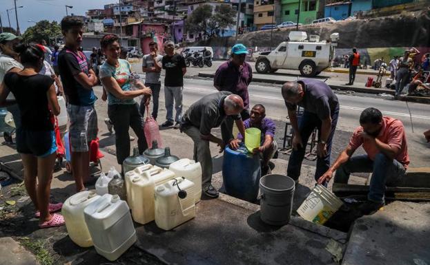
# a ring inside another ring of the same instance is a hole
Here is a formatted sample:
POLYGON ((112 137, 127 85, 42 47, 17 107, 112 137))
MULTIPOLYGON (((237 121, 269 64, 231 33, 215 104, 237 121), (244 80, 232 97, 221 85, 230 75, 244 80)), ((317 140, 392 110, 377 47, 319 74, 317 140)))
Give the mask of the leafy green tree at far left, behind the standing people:
POLYGON ((43 39, 49 43, 50 39, 59 35, 61 35, 61 28, 57 21, 41 20, 36 25, 27 28, 22 37, 28 43, 32 41, 39 43, 43 39))

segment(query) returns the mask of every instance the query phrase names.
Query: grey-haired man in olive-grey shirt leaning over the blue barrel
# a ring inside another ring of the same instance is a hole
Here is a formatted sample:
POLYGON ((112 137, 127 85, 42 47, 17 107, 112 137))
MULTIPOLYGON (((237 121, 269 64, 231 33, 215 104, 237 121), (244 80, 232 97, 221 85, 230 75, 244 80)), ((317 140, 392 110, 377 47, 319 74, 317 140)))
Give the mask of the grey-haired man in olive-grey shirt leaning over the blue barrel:
POLYGON ((209 142, 219 145, 220 153, 228 144, 211 134, 211 129, 219 127, 228 116, 231 116, 240 133, 245 135, 244 123, 240 116, 243 109, 244 101, 240 96, 223 91, 204 96, 193 103, 182 117, 180 129, 194 142, 194 160, 202 165, 202 191, 208 197, 217 198, 219 195, 212 186, 212 156, 209 142))

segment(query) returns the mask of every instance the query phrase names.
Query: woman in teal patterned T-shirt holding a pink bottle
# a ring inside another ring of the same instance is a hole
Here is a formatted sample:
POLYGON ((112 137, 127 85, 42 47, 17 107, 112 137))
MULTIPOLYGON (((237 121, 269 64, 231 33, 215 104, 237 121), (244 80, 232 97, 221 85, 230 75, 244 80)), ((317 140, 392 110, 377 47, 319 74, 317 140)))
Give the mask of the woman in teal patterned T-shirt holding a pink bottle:
POLYGON ((143 83, 137 83, 138 89, 131 90, 131 66, 128 61, 119 59, 121 47, 117 35, 103 36, 100 45, 106 54, 106 61, 100 67, 99 76, 104 91, 108 93, 108 116, 115 129, 117 162, 122 167, 124 160, 130 156, 130 127, 138 138, 139 153, 144 153, 148 148, 144 134, 144 118, 139 113, 139 105, 134 98, 150 96, 151 91, 143 83))

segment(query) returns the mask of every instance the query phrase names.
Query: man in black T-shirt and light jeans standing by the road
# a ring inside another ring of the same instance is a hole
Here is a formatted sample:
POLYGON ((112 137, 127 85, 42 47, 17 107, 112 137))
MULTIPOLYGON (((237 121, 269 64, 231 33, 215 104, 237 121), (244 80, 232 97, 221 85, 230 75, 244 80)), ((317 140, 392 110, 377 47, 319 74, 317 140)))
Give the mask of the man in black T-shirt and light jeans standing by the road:
POLYGON ((166 104, 166 122, 162 127, 170 127, 175 121, 174 129, 179 129, 182 118, 182 90, 184 89, 184 74, 186 73, 185 59, 175 52, 175 43, 164 43, 162 67, 166 70, 164 77, 164 101, 166 104), (175 120, 173 120, 173 104, 175 104, 175 120))

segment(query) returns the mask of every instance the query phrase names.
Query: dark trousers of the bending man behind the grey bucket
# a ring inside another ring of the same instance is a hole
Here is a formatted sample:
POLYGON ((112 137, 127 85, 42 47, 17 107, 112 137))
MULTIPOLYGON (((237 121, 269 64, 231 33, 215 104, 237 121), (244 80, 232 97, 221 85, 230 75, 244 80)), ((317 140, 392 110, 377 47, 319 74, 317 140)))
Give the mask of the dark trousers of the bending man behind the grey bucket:
MULTIPOLYGON (((333 135, 335 134, 336 125, 338 124, 339 107, 331 114, 331 131, 329 138, 326 142, 327 156, 323 158, 317 158, 317 169, 315 170, 315 180, 318 180, 322 174, 330 167, 330 156, 331 156, 331 142, 333 140, 333 135)), ((318 129, 318 139, 321 137, 321 120, 318 118, 317 114, 311 112, 306 112, 304 110, 302 118, 299 120, 299 131, 302 137, 302 147, 293 150, 289 159, 288 168, 286 169, 286 175, 293 180, 298 180, 300 177, 300 169, 302 169, 302 162, 304 158, 304 153, 306 151, 306 145, 311 136, 313 129, 317 127, 318 129)))

